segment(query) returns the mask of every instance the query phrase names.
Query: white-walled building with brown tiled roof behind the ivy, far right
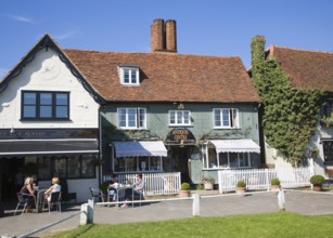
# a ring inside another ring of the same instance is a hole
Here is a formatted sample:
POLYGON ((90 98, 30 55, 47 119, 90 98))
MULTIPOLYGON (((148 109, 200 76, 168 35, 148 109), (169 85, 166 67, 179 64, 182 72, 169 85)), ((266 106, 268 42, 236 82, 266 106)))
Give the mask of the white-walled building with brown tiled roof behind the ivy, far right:
MULTIPOLYGON (((274 58, 279 63, 293 87, 305 90, 317 89, 325 93, 318 115, 317 129, 304 151, 304 158, 313 159, 316 173, 332 177, 333 68, 331 66, 333 53, 270 45, 265 51, 265 60, 268 61, 269 58, 274 58), (311 151, 316 151, 316 155, 311 151)), ((265 147, 267 163, 274 164, 278 168, 291 167, 274 148, 268 144, 265 147)))

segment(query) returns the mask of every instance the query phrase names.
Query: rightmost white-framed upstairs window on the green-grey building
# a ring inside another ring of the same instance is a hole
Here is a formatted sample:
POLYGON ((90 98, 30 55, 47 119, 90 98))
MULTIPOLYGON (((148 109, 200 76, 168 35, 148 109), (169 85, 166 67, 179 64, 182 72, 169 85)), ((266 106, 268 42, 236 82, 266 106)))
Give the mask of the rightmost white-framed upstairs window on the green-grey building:
POLYGON ((214 128, 240 128, 239 109, 214 108, 214 128))

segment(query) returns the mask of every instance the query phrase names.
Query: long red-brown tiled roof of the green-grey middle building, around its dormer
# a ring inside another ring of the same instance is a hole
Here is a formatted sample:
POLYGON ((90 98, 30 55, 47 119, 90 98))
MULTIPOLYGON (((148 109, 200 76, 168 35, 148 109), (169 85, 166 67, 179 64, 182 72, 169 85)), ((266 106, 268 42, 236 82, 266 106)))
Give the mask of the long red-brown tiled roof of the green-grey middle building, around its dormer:
POLYGON ((63 50, 108 102, 260 102, 240 57, 63 50), (119 65, 140 68, 140 87, 120 85, 119 65))

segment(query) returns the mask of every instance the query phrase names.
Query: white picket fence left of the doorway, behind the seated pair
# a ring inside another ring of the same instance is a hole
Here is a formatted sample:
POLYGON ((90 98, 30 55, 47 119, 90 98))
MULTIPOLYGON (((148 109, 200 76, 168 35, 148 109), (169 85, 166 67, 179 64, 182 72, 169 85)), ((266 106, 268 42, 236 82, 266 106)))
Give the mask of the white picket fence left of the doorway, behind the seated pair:
MULTIPOLYGON (((137 174, 118 174, 119 183, 126 181, 133 184, 137 174)), ((142 173, 142 178, 145 182, 144 195, 175 195, 180 189, 180 172, 170 173, 142 173)), ((103 182, 111 181, 111 175, 103 175, 103 182)))

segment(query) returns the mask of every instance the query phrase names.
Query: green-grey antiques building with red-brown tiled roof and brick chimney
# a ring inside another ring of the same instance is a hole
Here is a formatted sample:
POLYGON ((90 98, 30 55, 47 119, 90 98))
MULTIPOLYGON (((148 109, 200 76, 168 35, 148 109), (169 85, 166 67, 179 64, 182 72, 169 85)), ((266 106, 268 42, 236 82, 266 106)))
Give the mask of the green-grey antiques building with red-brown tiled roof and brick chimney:
POLYGON ((179 54, 175 21, 154 21, 151 48, 64 50, 106 101, 104 173, 180 171, 196 184, 217 170, 260 167, 260 98, 240 57, 179 54))

